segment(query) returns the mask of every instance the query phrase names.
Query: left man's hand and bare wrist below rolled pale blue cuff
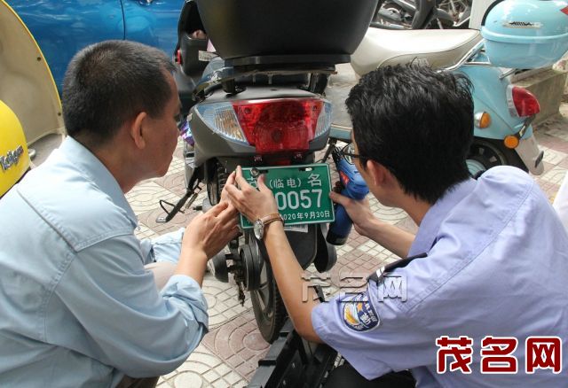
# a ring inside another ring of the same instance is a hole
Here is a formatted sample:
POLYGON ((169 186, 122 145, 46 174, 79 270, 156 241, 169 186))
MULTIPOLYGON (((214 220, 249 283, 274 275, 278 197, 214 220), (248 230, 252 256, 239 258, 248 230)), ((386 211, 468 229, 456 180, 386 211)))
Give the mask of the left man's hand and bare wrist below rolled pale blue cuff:
POLYGON ((188 275, 201 285, 207 260, 239 234, 237 210, 224 201, 197 215, 185 228, 176 274, 188 275))

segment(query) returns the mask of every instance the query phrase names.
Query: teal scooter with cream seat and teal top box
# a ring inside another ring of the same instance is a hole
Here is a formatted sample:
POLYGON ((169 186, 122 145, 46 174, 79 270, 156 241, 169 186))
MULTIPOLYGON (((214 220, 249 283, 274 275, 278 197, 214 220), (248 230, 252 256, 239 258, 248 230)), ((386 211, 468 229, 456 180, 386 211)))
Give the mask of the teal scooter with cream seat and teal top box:
MULTIPOLYGON (((540 105, 531 92, 514 86, 511 76, 517 69, 551 66, 563 57, 568 50, 567 7, 564 0, 497 2, 486 13, 481 31, 370 27, 351 56, 351 66, 358 76, 409 62, 468 75, 474 86, 471 175, 499 165, 540 175, 543 152, 532 127, 540 105)), ((341 107, 339 111, 341 116, 341 107)), ((340 121, 335 120, 331 136, 349 140, 349 125, 340 121)))

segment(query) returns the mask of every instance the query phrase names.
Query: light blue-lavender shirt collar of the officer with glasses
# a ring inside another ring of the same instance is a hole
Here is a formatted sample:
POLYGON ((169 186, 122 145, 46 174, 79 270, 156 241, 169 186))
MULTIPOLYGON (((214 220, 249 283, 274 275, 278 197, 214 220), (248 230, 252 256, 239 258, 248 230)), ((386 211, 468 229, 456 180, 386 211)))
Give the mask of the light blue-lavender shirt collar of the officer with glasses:
POLYGON ((430 207, 430 210, 422 219, 413 244, 410 246, 410 250, 408 251, 409 257, 422 252, 430 252, 432 245, 436 242, 441 222, 454 206, 460 203, 463 198, 469 196, 476 184, 477 182, 471 178, 467 181, 457 183, 448 189, 434 206, 430 207))

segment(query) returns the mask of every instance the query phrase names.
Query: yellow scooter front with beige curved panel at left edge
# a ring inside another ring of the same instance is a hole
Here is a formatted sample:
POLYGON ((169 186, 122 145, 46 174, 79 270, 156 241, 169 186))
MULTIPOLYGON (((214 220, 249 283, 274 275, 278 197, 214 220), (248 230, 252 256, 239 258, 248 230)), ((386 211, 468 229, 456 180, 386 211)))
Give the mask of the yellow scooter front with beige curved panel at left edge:
POLYGON ((0 197, 30 167, 28 144, 64 136, 61 103, 36 40, 0 0, 0 197))

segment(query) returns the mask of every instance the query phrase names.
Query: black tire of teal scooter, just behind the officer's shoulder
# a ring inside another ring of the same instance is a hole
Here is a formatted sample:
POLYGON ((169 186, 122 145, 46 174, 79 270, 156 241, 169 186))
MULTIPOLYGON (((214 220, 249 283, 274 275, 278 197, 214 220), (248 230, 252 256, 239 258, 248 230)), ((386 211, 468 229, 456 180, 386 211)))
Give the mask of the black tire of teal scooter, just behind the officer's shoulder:
POLYGON ((528 171, 517 151, 505 147, 499 139, 475 138, 469 147, 467 163, 469 174, 475 177, 495 166, 513 166, 528 171))

